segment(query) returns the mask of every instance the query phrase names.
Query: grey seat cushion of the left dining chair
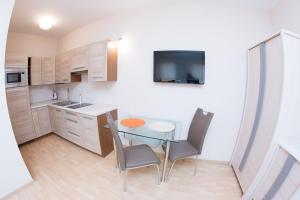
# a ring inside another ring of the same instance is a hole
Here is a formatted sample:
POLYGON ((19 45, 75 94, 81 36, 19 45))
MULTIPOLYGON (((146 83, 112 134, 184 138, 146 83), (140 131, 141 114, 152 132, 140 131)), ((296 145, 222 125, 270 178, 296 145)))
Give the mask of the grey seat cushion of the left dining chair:
POLYGON ((124 148, 126 168, 142 167, 151 164, 160 164, 160 159, 146 144, 124 148))

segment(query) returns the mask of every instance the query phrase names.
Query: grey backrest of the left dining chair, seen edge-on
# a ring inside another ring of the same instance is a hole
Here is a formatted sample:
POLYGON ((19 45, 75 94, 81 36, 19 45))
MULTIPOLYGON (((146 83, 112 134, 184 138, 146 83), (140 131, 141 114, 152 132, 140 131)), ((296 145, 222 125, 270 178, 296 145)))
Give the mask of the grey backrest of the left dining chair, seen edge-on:
POLYGON ((118 160, 119 167, 122 170, 125 170, 126 168, 125 153, 124 153, 122 141, 118 133, 118 128, 110 112, 106 113, 106 119, 107 119, 108 126, 111 130, 111 133, 113 135, 113 138, 115 140, 115 147, 116 147, 115 151, 117 152, 117 160, 118 160))

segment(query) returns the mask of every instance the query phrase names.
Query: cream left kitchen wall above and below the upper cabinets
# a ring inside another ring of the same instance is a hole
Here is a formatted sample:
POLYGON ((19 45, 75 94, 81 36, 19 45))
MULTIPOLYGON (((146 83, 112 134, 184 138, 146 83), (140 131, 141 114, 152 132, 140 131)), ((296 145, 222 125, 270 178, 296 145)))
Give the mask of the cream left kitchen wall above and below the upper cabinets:
MULTIPOLYGON (((57 40, 38 35, 9 32, 6 53, 21 54, 29 57, 55 56, 57 40)), ((31 102, 52 98, 54 86, 31 86, 31 102)))

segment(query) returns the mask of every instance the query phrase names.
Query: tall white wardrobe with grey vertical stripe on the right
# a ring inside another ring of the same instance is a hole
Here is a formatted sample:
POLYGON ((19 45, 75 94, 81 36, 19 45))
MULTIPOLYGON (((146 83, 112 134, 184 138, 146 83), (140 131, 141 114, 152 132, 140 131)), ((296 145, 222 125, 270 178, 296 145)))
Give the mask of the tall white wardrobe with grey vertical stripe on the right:
POLYGON ((244 199, 259 186, 282 140, 298 140, 300 37, 282 31, 248 51, 244 113, 231 164, 244 199))

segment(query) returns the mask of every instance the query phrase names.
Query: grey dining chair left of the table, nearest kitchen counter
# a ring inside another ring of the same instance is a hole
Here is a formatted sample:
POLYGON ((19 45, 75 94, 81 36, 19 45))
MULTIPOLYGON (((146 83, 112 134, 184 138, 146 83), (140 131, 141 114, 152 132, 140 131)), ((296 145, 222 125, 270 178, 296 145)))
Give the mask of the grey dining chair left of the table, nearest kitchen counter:
POLYGON ((127 171, 129 169, 136 169, 154 165, 157 169, 158 184, 160 184, 160 159, 157 157, 154 151, 146 144, 129 146, 124 148, 118 133, 117 126, 110 112, 106 113, 106 118, 115 142, 115 151, 117 152, 118 167, 123 174, 123 191, 127 191, 126 179, 127 171))

